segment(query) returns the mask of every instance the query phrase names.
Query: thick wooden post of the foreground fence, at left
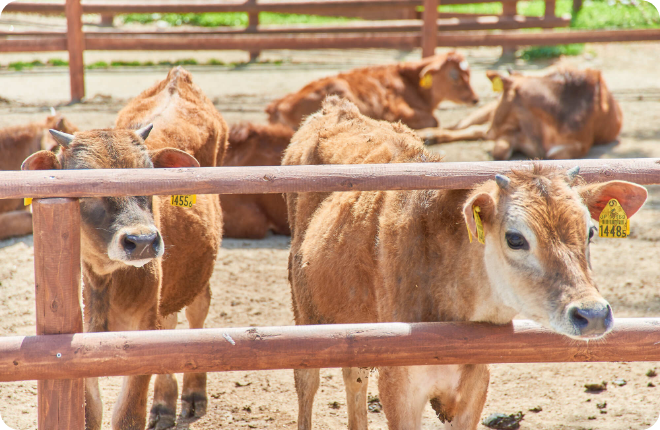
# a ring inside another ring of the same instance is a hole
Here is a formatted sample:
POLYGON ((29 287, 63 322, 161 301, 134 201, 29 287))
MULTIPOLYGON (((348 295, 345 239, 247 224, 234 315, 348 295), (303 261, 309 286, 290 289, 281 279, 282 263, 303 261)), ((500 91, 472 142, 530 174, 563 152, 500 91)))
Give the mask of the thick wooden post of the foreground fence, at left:
MULTIPOLYGON (((37 335, 81 333, 78 199, 34 199, 32 217, 37 335)), ((39 430, 85 428, 84 379, 39 381, 37 391, 39 430)))

